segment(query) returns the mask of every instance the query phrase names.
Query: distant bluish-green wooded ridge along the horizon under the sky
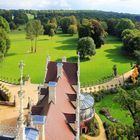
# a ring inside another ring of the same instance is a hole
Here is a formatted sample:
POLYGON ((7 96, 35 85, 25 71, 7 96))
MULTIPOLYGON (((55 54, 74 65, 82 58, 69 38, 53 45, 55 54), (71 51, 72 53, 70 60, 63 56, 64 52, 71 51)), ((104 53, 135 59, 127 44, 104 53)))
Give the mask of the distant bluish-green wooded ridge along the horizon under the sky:
POLYGON ((38 18, 42 18, 43 20, 47 20, 47 18, 51 17, 64 17, 74 15, 78 19, 99 19, 106 20, 109 18, 129 18, 131 20, 140 21, 139 15, 133 14, 124 14, 124 13, 116 13, 116 12, 105 12, 105 11, 97 11, 97 10, 42 10, 42 11, 26 11, 31 14, 36 15, 38 18))

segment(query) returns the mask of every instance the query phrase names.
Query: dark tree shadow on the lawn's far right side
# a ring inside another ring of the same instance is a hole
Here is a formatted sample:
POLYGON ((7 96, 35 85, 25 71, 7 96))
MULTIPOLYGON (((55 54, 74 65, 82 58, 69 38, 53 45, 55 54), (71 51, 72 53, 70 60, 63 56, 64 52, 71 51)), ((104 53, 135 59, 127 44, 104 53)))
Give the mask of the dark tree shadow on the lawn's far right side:
POLYGON ((112 62, 128 63, 130 59, 124 54, 120 46, 115 46, 113 49, 105 50, 106 57, 111 59, 112 62))

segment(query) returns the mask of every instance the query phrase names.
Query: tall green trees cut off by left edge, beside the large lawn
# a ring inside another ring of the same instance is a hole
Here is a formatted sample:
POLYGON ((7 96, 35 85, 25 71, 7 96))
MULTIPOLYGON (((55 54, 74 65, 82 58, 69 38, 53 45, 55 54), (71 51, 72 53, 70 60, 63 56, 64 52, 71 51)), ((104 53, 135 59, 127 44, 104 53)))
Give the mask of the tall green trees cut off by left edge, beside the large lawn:
POLYGON ((0 59, 6 55, 10 48, 9 32, 10 28, 8 22, 0 16, 0 59))

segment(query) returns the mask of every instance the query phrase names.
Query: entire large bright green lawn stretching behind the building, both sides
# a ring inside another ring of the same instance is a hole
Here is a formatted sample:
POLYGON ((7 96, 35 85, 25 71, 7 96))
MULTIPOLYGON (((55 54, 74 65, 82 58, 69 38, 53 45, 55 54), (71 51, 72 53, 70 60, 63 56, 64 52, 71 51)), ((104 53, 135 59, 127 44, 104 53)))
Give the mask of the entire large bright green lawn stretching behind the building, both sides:
MULTIPOLYGON (((24 32, 10 34, 11 48, 7 57, 0 63, 0 76, 18 78, 18 64, 25 63, 25 74, 30 75, 33 83, 43 82, 46 56, 51 60, 60 60, 63 56, 68 61, 76 61, 77 35, 57 34, 53 38, 40 36, 37 53, 29 53, 30 41, 25 39, 24 32)), ((115 37, 108 37, 105 45, 97 49, 95 56, 89 61, 81 62, 81 82, 93 82, 112 74, 112 66, 117 64, 119 74, 130 69, 130 61, 121 54, 121 42, 115 37)))

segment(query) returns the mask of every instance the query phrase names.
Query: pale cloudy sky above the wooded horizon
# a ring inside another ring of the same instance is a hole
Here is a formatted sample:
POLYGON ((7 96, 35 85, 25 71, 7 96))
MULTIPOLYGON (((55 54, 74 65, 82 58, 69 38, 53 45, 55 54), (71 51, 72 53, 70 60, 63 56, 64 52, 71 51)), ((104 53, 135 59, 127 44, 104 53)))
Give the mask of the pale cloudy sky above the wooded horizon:
POLYGON ((140 0, 0 0, 0 9, 102 10, 140 14, 140 0))

